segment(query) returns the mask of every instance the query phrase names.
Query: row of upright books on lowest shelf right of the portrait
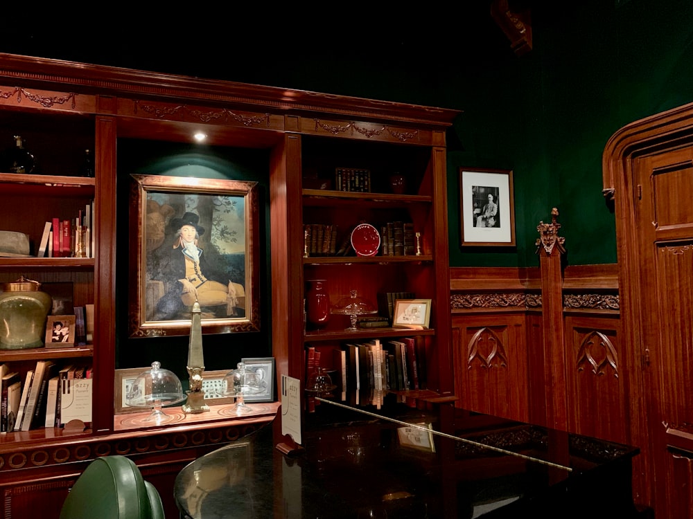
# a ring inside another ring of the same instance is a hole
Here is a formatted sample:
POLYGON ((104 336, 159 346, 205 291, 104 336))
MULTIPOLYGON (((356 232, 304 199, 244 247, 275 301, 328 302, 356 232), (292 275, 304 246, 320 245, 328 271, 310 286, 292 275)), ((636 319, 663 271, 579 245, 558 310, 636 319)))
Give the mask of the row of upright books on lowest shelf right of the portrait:
MULTIPOLYGON (((427 387, 426 338, 423 336, 363 343, 343 343, 333 348, 335 397, 351 406, 383 406, 388 392, 423 390, 427 387)), ((321 352, 306 346, 306 377, 320 365, 321 352)), ((314 403, 308 401, 308 411, 314 403)))

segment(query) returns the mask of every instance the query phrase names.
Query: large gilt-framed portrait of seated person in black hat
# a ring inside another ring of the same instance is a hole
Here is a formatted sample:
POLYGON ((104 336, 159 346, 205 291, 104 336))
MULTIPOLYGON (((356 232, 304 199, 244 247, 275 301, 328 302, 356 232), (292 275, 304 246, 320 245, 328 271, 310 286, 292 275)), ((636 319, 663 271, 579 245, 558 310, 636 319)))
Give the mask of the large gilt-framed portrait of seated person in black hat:
POLYGON ((258 331, 257 183, 131 176, 130 336, 258 331))

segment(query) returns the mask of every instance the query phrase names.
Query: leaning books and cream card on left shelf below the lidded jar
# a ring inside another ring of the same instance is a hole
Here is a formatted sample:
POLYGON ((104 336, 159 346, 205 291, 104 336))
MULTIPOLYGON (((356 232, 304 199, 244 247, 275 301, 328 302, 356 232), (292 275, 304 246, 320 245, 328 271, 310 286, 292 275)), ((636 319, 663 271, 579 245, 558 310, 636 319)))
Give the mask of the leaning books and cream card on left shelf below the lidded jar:
POLYGON ((37 361, 21 381, 19 372, 0 366, 0 434, 40 427, 64 427, 78 419, 91 424, 90 365, 37 361))

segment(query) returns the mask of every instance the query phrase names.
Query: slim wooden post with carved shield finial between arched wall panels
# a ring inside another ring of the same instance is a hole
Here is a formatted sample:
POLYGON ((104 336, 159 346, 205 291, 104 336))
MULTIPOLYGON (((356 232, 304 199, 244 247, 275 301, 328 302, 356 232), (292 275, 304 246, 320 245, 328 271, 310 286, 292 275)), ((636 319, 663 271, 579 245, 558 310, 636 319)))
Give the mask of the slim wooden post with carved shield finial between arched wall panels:
POLYGON ((565 380, 565 330, 563 328, 563 242, 559 237, 561 224, 556 223, 559 212, 551 211, 551 223, 539 222, 536 230, 537 253, 541 264, 541 299, 543 306, 543 358, 546 423, 567 430, 567 394, 565 380))

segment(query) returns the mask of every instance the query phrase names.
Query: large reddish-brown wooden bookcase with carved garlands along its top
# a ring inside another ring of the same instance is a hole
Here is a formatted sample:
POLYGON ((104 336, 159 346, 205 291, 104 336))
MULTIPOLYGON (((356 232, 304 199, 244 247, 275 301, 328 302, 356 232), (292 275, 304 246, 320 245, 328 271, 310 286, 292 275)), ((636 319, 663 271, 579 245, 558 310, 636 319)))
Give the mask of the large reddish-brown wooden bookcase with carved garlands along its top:
POLYGON ((342 331, 342 316, 333 316, 324 331, 306 331, 305 282, 321 276, 330 281, 332 297, 356 289, 369 298, 378 291, 401 290, 431 299, 430 329, 421 332, 428 388, 452 397, 445 131, 457 113, 0 54, 1 147, 21 134, 44 175, 24 179, 0 172, 3 228, 27 233, 37 246, 49 216, 65 212, 71 217, 94 199, 96 249, 96 257, 86 259, 0 258, 0 282, 22 274, 40 282, 70 281, 74 304, 95 306, 91 347, 0 351, 0 363, 22 372, 38 358, 85 356, 95 373, 91 430, 68 435, 40 428, 0 437, 5 517, 57 516, 71 482, 89 460, 108 453, 132 456, 160 493, 169 495, 184 464, 271 419, 276 409, 274 404, 265 416, 251 419, 186 417, 163 428, 124 427, 114 415, 116 354, 125 354, 119 352, 116 334, 116 320, 123 318, 116 312, 116 284, 122 280, 112 253, 116 228, 124 224, 116 189, 119 138, 188 143, 193 131, 202 130, 209 145, 267 150, 271 286, 262 296, 272 302, 271 323, 270 316, 261 316, 261 322, 272 327, 277 381, 282 374, 304 381, 307 344, 328 351, 351 338, 411 335, 394 329, 351 335, 342 331), (94 179, 76 176, 85 149, 94 150, 94 179), (316 176, 333 180, 337 167, 369 170, 371 192, 304 186, 304 179, 316 176), (406 176, 405 194, 389 189, 393 172, 406 176), (346 232, 361 220, 381 225, 394 219, 414 223, 421 233, 421 256, 304 258, 303 227, 311 220, 331 222, 346 232))

